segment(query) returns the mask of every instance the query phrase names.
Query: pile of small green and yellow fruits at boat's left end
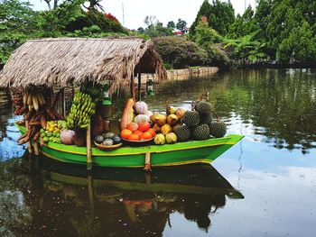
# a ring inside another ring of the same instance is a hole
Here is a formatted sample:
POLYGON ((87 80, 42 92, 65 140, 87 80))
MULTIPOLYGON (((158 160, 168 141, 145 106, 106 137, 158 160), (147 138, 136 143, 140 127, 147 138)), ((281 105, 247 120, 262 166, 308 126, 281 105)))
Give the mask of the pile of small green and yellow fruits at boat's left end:
POLYGON ((41 129, 42 140, 47 142, 61 143, 60 132, 67 128, 66 121, 48 121, 45 128, 41 129))

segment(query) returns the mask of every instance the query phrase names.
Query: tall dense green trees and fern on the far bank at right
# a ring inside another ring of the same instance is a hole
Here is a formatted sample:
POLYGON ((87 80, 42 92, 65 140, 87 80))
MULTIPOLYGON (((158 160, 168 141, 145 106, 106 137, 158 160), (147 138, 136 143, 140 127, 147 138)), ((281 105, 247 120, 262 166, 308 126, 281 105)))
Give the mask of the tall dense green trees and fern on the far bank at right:
POLYGON ((220 42, 221 35, 230 58, 246 63, 276 59, 285 64, 311 65, 316 63, 315 12, 315 1, 257 0, 255 11, 249 6, 235 19, 229 1, 214 0, 210 5, 205 0, 191 26, 191 39, 206 49, 209 42, 220 42), (205 24, 199 28, 203 15, 209 29, 205 24))

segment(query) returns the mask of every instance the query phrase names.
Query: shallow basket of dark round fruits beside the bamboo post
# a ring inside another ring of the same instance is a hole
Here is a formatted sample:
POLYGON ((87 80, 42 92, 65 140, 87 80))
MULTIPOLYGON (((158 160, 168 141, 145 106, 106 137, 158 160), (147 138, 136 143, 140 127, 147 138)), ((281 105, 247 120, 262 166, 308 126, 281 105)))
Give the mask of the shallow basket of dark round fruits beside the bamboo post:
POLYGON ((116 150, 123 144, 122 138, 113 132, 97 135, 94 142, 99 150, 116 150))

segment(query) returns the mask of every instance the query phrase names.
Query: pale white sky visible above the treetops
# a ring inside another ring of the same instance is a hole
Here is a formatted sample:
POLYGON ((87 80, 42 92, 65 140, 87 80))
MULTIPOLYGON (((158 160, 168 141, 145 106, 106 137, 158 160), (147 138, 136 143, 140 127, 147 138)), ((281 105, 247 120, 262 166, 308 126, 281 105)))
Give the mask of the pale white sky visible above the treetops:
MULTIPOLYGON (((47 10, 48 7, 43 0, 29 0, 34 5, 34 10, 47 10)), ((224 0, 223 0, 224 1, 224 0)), ((51 1, 52 2, 52 1, 51 1)), ((236 14, 243 14, 245 10, 245 0, 230 0, 235 8, 236 14)), ((165 26, 168 22, 178 22, 178 19, 188 23, 194 22, 196 15, 202 5, 203 0, 104 0, 102 5, 106 13, 114 14, 118 21, 128 29, 144 27, 146 15, 156 16, 159 22, 165 26), (124 7, 122 7, 124 6, 124 7), (124 9, 124 21, 123 10, 124 9)), ((211 3, 211 0, 209 0, 211 3)), ((246 0, 246 6, 256 5, 256 0, 246 0)))

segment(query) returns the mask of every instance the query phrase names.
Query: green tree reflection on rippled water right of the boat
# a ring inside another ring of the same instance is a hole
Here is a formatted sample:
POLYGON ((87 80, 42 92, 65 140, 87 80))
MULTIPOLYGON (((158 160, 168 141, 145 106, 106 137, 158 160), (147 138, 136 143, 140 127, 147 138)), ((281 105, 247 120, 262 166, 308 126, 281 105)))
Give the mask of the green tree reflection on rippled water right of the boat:
POLYGON ((311 69, 234 70, 213 78, 175 81, 159 88, 150 105, 163 110, 165 101, 190 108, 205 91, 215 110, 245 135, 277 149, 316 147, 316 71, 311 69), (157 100, 157 98, 159 98, 157 100), (237 118, 237 119, 236 119, 237 118))

